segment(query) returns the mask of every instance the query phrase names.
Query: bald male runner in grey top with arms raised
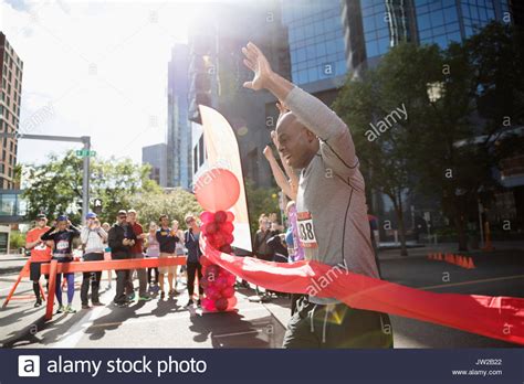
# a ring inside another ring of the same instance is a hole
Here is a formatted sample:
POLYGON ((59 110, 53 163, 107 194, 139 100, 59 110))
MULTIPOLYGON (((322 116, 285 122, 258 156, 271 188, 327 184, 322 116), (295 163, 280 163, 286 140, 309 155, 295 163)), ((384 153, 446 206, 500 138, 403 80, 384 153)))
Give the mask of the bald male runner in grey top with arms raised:
MULTIPOLYGON (((244 87, 268 89, 290 108, 279 119, 276 135, 282 159, 301 170, 296 210, 306 259, 334 266, 337 274, 350 270, 378 278, 365 184, 349 129, 321 100, 274 73, 254 44, 242 52, 254 73, 244 87)), ((321 298, 315 289, 308 294, 290 320, 284 348, 392 346, 386 313, 321 298)))

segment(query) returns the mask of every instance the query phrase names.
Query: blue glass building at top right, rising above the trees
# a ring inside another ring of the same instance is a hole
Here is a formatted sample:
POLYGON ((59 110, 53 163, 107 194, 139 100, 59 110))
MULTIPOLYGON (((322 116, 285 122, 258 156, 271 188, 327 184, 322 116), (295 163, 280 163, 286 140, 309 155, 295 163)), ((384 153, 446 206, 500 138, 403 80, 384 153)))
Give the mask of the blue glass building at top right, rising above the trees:
POLYGON ((345 0, 349 71, 373 66, 401 41, 447 47, 493 20, 511 21, 509 0, 345 0))

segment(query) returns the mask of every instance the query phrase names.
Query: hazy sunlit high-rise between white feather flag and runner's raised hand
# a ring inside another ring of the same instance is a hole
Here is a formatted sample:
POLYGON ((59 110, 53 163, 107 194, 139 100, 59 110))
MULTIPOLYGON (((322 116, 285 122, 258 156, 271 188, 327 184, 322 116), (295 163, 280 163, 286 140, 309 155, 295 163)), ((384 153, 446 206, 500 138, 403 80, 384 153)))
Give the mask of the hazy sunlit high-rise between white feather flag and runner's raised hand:
MULTIPOLYGON (((281 4, 276 0, 210 6, 208 19, 202 19, 189 33, 189 118, 200 124, 198 105, 221 113, 231 124, 240 148, 244 175, 258 186, 273 184, 262 150, 271 142, 270 132, 276 122, 276 99, 268 92, 254 93, 242 84, 252 78, 241 52, 249 41, 266 54, 274 71, 290 78, 286 29, 282 24, 281 4), (239 15, 242 17, 239 17, 239 15)), ((198 125, 192 142, 193 181, 205 158, 199 156, 198 125), (197 153, 197 161, 195 161, 197 153), (196 164, 199 166, 196 169, 196 164)))

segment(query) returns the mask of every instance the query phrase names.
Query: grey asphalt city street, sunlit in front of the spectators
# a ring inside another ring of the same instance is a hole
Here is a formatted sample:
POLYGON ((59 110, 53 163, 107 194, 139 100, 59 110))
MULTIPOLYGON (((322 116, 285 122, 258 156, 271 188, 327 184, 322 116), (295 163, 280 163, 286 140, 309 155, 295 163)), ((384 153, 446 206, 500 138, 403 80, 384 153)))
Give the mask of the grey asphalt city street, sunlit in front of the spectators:
MULTIPOLYGON (((428 260, 430 249, 410 249, 400 257, 398 250, 380 253, 382 278, 434 292, 478 294, 524 297, 524 250, 521 245, 504 244, 491 253, 471 253, 475 269, 464 269, 443 262, 428 260), (503 249, 504 248, 504 249, 503 249)), ((3 256, 0 262, 0 299, 3 302, 14 281, 17 265, 25 259, 3 256)), ((11 301, 0 311, 0 342, 10 348, 280 348, 289 320, 286 298, 271 302, 251 302, 254 289, 237 292, 238 311, 202 313, 187 309, 185 282, 174 299, 136 302, 128 308, 111 303, 113 288, 102 282, 105 307, 78 310, 75 314, 56 314, 45 323, 44 309, 33 301, 11 301)), ((81 276, 76 276, 76 286, 81 276)), ((17 295, 31 294, 23 280, 17 295)), ((80 309, 78 292, 74 307, 80 309)), ((392 317, 396 348, 514 348, 505 343, 440 326, 392 317)))

